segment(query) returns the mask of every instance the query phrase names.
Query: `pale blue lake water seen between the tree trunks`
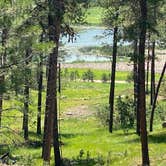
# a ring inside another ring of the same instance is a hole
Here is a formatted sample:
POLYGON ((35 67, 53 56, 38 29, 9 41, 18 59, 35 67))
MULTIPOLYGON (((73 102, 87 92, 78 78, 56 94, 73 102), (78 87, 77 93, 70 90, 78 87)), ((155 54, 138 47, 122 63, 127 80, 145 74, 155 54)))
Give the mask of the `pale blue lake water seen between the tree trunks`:
POLYGON ((66 37, 62 38, 62 43, 65 45, 64 49, 67 52, 65 56, 65 62, 74 61, 109 61, 110 59, 103 56, 97 55, 84 55, 79 51, 80 48, 90 47, 90 46, 102 46, 103 44, 112 45, 113 36, 106 35, 108 31, 102 28, 90 28, 79 32, 76 40, 68 42, 66 37))

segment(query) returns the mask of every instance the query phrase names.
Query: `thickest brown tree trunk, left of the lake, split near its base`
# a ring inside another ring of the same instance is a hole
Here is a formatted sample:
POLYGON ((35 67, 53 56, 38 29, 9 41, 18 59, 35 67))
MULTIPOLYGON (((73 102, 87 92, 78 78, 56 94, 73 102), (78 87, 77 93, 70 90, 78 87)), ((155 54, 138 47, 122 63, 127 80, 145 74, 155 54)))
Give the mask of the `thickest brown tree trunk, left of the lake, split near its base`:
POLYGON ((49 57, 49 72, 47 80, 47 97, 43 138, 43 160, 44 164, 50 165, 51 140, 53 139, 55 165, 60 166, 61 158, 59 150, 57 119, 57 58, 60 27, 63 17, 63 1, 49 0, 48 5, 49 40, 54 42, 56 46, 49 57))

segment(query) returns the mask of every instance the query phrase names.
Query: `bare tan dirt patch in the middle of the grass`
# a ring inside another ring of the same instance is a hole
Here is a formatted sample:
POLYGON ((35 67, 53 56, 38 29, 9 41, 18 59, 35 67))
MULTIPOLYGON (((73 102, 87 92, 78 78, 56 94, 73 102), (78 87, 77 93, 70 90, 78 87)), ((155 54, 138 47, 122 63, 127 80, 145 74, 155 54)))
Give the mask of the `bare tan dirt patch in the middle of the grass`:
POLYGON ((68 109, 64 113, 64 117, 66 118, 84 118, 89 117, 93 114, 87 105, 76 106, 73 108, 68 109))

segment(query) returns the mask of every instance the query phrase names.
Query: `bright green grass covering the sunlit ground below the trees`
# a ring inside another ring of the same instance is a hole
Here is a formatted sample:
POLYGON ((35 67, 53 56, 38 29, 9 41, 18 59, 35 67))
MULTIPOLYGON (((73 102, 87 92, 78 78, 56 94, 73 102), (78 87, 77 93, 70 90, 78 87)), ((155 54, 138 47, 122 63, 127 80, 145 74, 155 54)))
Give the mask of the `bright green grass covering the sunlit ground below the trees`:
MULTIPOLYGON (((84 70, 80 69, 79 72, 84 72, 84 70)), ((96 77, 99 78, 102 72, 96 70, 96 77)), ((123 80, 127 74, 126 72, 119 72, 117 73, 117 79, 123 80)), ((132 95, 132 91, 132 84, 116 84, 116 96, 132 95)), ((30 94, 30 140, 29 142, 24 142, 23 140, 21 118, 23 104, 21 96, 17 98, 13 96, 9 100, 5 100, 5 108, 17 106, 19 109, 3 112, 2 124, 7 128, 0 130, 0 154, 9 151, 12 160, 16 160, 18 165, 42 166, 42 136, 36 135, 37 92, 31 90, 30 94)), ((108 83, 66 82, 63 85, 61 94, 62 120, 60 122, 60 134, 63 143, 61 147, 62 156, 66 161, 71 160, 75 163, 75 166, 103 165, 103 163, 113 166, 122 164, 129 166, 137 165, 141 162, 140 141, 134 130, 130 130, 128 134, 124 134, 122 130, 115 130, 113 134, 109 134, 108 129, 101 126, 94 115, 83 118, 66 118, 64 116, 66 111, 72 111, 76 107, 86 105, 88 106, 88 111, 95 113, 98 105, 108 102, 108 94, 108 83)), ((42 117, 44 116, 45 92, 43 92, 43 96, 42 117)), ((164 166, 166 164, 165 138, 166 130, 161 128, 161 122, 158 120, 155 123, 155 132, 149 134, 152 165, 164 166)), ((53 156, 51 164, 53 165, 53 156)))

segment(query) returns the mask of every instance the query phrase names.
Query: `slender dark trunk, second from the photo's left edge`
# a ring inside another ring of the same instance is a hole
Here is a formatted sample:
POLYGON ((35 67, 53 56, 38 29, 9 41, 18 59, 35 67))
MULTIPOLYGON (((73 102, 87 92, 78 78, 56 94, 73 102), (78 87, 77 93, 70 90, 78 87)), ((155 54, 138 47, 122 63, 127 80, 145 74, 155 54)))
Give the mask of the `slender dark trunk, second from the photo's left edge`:
MULTIPOLYGON (((28 49, 26 51, 25 58, 29 57, 30 55, 30 50, 28 49)), ((29 60, 26 60, 25 62, 25 78, 24 78, 24 115, 23 115, 23 130, 24 130, 24 139, 28 140, 28 122, 29 122, 29 72, 30 70, 28 69, 28 64, 29 60)))

